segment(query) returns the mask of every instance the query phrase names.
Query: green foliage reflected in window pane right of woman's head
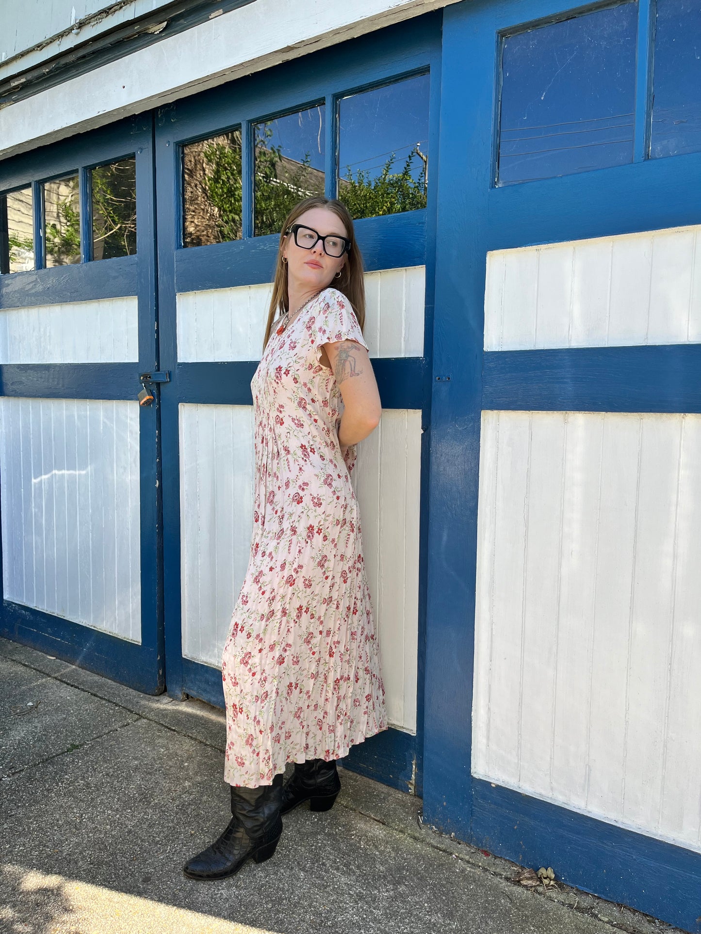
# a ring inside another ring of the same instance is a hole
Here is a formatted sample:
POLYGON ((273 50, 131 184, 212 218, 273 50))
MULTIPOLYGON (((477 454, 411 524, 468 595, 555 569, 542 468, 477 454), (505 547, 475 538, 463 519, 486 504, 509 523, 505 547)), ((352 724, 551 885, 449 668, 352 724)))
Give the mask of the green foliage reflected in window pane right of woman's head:
POLYGON ((418 179, 411 175, 412 163, 418 156, 418 147, 412 149, 402 171, 393 173, 393 153, 376 178, 363 169, 358 169, 353 177, 349 166, 348 177, 340 180, 338 197, 354 218, 377 218, 384 214, 398 214, 400 211, 425 207, 426 163, 422 161, 418 179))

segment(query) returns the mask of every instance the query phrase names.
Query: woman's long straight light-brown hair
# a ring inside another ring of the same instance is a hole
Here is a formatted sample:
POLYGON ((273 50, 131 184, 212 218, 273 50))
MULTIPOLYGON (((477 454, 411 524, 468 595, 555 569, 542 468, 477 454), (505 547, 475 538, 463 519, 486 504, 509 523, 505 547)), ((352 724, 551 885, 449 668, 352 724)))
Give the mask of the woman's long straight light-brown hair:
POLYGON ((268 340, 270 339, 270 332, 272 331, 272 325, 276 315, 278 312, 280 315, 282 315, 286 311, 290 310, 290 299, 287 293, 287 264, 282 262, 282 244, 284 243, 285 236, 292 236, 292 234, 286 234, 285 231, 288 231, 296 219, 300 218, 312 207, 325 207, 329 211, 333 211, 334 214, 336 214, 336 217, 343 223, 343 226, 346 228, 346 233, 350 239, 350 248, 348 250, 346 262, 344 262, 343 266, 341 267, 341 275, 337 279, 335 278, 333 282, 329 283, 329 285, 333 285, 335 289, 342 292, 346 296, 353 311, 355 312, 355 317, 358 319, 360 330, 363 331, 365 328, 365 279, 363 278, 363 256, 361 255, 360 248, 358 247, 358 244, 355 240, 353 219, 350 217, 350 212, 346 205, 340 201, 337 201, 336 198, 324 198, 322 195, 315 195, 311 198, 305 198, 304 201, 300 201, 298 205, 294 205, 293 209, 285 218, 285 222, 282 225, 282 230, 279 234, 278 261, 275 266, 273 295, 270 300, 270 308, 268 310, 267 323, 265 325, 265 338, 263 341, 264 350, 268 340))

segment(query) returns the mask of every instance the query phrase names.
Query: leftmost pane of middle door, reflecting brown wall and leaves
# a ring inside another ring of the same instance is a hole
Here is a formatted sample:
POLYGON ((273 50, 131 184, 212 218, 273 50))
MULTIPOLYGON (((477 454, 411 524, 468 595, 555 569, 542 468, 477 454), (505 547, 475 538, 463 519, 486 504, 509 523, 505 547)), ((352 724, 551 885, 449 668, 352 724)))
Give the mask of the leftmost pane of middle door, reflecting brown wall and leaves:
POLYGON ((241 238, 241 131, 231 130, 183 150, 183 247, 241 238))

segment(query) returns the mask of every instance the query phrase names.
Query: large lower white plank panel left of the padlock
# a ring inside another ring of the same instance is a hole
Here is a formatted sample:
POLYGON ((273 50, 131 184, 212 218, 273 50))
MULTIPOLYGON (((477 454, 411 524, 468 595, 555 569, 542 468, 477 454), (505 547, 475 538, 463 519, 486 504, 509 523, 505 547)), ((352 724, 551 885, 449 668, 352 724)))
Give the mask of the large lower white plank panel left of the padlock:
POLYGON ((141 641, 138 403, 0 399, 7 600, 141 641))

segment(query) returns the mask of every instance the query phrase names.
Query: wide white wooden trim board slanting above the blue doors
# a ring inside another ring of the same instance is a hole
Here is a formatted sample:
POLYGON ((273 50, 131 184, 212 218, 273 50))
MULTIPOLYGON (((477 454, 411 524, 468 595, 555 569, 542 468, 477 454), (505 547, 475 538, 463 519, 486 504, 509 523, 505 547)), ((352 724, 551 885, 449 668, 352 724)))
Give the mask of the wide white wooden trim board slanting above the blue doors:
POLYGON ((457 0, 256 0, 0 111, 0 156, 83 133, 457 0))

